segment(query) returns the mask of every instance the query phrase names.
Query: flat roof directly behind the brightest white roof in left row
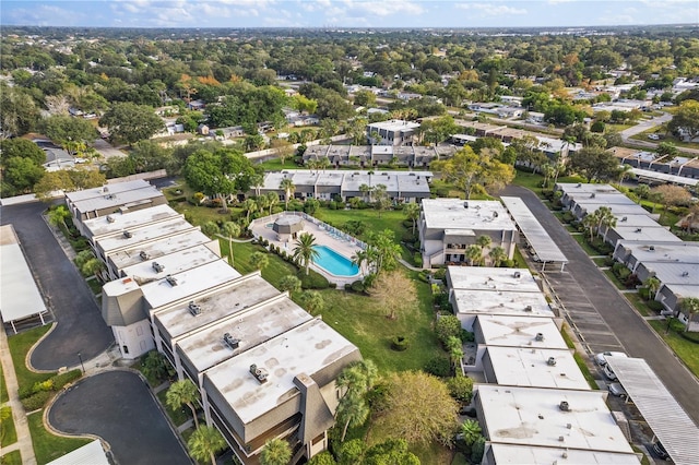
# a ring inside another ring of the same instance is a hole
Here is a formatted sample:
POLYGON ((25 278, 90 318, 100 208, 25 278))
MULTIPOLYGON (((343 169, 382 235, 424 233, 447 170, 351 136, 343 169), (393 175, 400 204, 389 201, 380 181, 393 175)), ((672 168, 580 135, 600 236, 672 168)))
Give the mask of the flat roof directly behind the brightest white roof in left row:
MULTIPOLYGON (((140 257, 139 260, 141 260, 140 257)), ((215 262, 216 260, 221 260, 221 257, 216 255, 206 246, 200 245, 189 249, 178 250, 175 253, 158 257, 157 259, 151 257, 121 271, 137 282, 144 283, 150 279, 161 279, 168 274, 177 274, 185 270, 196 269, 204 263, 215 262), (155 271, 153 267, 154 262, 163 266, 162 272, 158 273, 155 271)))

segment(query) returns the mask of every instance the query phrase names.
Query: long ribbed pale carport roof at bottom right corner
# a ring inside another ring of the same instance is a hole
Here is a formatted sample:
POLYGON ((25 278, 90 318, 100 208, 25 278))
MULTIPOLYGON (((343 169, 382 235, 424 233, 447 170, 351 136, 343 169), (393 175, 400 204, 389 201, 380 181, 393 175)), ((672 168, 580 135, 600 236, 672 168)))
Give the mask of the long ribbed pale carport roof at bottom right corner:
POLYGON ((676 465, 699 457, 699 428, 642 358, 608 357, 607 363, 676 465))

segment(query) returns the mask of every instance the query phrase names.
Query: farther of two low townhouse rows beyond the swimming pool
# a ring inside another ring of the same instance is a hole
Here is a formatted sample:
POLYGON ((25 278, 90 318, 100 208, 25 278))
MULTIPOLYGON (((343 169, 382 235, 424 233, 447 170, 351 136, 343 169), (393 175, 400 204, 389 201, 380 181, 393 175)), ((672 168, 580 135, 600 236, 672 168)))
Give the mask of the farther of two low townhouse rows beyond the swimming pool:
POLYGON ((304 152, 303 160, 328 159, 334 167, 360 166, 407 166, 427 168, 435 159, 452 156, 457 148, 450 145, 312 145, 304 152))

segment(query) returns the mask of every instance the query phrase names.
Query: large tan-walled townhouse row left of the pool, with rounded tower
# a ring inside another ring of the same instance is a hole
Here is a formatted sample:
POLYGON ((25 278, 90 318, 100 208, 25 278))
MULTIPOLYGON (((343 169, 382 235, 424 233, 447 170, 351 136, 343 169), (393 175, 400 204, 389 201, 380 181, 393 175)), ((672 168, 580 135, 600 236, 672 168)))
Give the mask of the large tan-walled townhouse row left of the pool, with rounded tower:
MULTIPOLYGON (((169 206, 149 198, 154 206, 125 208, 129 186, 140 190, 125 184, 110 184, 119 192, 111 207, 90 218, 71 210, 111 279, 102 315, 121 356, 164 354, 178 379, 198 386, 205 422, 241 463, 259 463, 273 438, 288 441, 292 463, 325 450, 342 396, 335 380, 360 360, 357 347, 259 272, 240 275, 217 241, 169 206)), ((66 196, 72 205, 85 200, 66 196)))

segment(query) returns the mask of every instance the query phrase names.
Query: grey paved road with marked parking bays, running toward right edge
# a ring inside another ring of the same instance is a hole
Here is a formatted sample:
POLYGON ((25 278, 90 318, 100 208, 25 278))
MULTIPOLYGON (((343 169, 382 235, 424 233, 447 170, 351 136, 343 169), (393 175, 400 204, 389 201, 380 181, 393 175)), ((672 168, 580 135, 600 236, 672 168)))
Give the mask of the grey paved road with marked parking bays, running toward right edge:
POLYGON ((566 254, 565 272, 546 276, 591 350, 623 348, 644 358, 689 417, 699 425, 699 382, 609 283, 558 219, 531 191, 509 186, 502 195, 521 198, 566 254))

